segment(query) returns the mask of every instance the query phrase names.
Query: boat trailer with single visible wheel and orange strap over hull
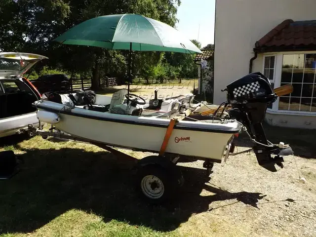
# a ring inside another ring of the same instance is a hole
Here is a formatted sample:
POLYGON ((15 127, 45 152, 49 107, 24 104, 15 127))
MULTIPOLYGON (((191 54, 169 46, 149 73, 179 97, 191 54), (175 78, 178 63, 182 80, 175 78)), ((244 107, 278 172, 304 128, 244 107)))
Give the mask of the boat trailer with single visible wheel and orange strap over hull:
MULTIPOLYGON (((92 144, 108 152, 111 152, 113 155, 117 157, 131 161, 132 163, 134 163, 132 171, 134 171, 133 173, 136 173, 135 182, 138 193, 141 195, 141 197, 144 197, 150 203, 158 204, 166 200, 170 200, 172 197, 177 197, 177 195, 175 194, 179 191, 180 187, 184 183, 184 178, 182 176, 181 170, 179 169, 179 167, 176 166, 176 164, 180 161, 180 158, 181 162, 193 162, 197 160, 204 160, 203 167, 206 168, 207 176, 209 176, 209 174, 211 173, 213 163, 221 162, 221 160, 218 159, 189 157, 166 153, 165 150, 168 146, 169 138, 172 134, 174 125, 177 122, 177 118, 170 119, 170 123, 167 127, 158 156, 152 155, 142 159, 137 159, 132 156, 129 156, 123 152, 116 150, 115 148, 133 150, 138 152, 154 151, 117 147, 111 146, 111 144, 103 144, 93 140, 88 140, 64 133, 59 129, 55 128, 53 125, 51 125, 48 131, 45 131, 43 130, 43 127, 41 125, 38 128, 36 128, 32 124, 29 124, 28 132, 30 135, 40 135, 43 139, 54 138, 63 141, 75 141, 86 144, 92 144)), ((233 147, 235 146, 232 146, 232 140, 233 139, 231 139, 229 144, 227 145, 227 152, 224 159, 225 162, 229 156, 229 153, 234 152, 233 147)))

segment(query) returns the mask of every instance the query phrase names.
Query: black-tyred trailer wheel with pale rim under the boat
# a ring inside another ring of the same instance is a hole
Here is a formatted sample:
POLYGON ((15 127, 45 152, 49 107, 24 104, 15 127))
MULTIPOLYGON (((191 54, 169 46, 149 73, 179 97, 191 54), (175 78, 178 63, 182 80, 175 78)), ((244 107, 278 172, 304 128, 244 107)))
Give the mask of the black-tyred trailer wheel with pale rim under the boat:
POLYGON ((175 196, 183 184, 183 177, 178 177, 160 165, 149 164, 139 168, 136 184, 143 198, 150 203, 159 204, 175 196))

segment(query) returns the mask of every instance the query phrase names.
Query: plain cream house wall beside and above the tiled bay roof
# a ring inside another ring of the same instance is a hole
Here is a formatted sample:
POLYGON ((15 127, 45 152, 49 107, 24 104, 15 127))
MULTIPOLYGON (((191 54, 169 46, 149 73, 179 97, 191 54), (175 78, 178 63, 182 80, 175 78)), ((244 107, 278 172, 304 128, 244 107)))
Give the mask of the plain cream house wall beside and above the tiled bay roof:
MULTIPOLYGON (((316 0, 217 0, 214 51, 214 103, 226 100, 230 82, 249 72, 255 42, 286 19, 315 20, 316 0)), ((252 72, 262 71, 262 55, 252 72)))

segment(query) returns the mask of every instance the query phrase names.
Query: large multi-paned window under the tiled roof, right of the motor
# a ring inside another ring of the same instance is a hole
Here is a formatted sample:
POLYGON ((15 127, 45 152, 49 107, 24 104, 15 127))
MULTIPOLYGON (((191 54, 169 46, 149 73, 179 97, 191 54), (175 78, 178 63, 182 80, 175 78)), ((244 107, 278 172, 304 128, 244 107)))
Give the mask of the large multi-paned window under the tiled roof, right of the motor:
POLYGON ((293 85, 293 92, 279 99, 278 109, 316 112, 316 54, 284 54, 281 86, 293 85))

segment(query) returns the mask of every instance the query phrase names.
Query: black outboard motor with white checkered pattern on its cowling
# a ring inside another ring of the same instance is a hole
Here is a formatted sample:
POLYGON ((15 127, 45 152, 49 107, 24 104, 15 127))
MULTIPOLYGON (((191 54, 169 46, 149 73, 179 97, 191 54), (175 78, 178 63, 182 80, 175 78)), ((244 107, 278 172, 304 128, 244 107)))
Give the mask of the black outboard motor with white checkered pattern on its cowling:
POLYGON ((256 144, 253 150, 259 165, 273 172, 276 171, 275 164, 283 168, 283 156, 291 155, 293 151, 288 145, 270 143, 262 126, 269 104, 277 98, 269 79, 261 73, 252 73, 227 85, 225 90, 228 104, 232 105, 230 117, 247 128, 250 139, 256 144))

